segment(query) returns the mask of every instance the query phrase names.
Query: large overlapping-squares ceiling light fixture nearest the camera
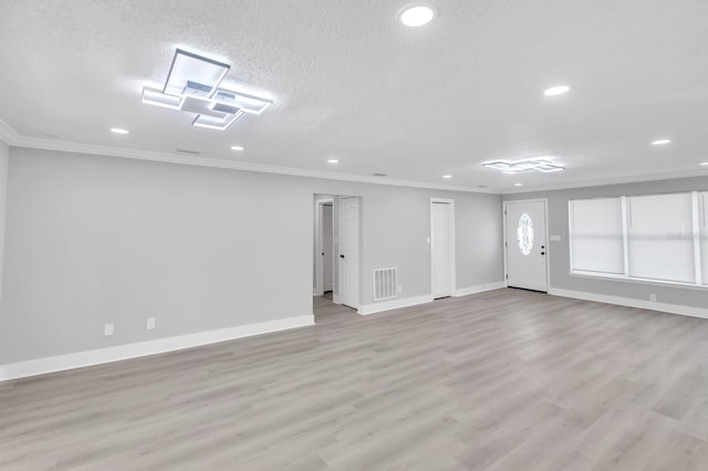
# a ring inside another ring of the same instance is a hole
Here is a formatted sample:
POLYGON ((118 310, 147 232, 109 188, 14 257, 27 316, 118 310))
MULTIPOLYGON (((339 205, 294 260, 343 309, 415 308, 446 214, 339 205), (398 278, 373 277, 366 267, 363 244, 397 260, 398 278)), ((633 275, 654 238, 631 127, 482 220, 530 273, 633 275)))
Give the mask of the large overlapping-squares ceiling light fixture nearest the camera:
POLYGON ((192 126, 223 130, 246 113, 260 115, 273 102, 220 87, 231 66, 178 49, 163 88, 143 87, 143 103, 195 114, 192 126))

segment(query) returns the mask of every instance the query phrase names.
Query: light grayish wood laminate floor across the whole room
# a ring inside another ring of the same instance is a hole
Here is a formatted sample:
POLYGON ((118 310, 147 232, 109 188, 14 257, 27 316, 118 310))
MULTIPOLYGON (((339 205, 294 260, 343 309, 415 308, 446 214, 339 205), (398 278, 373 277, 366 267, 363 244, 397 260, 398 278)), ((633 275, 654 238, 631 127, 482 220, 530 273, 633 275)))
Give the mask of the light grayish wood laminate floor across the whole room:
POLYGON ((708 469, 708 321, 517 290, 315 307, 0 384, 0 469, 708 469))

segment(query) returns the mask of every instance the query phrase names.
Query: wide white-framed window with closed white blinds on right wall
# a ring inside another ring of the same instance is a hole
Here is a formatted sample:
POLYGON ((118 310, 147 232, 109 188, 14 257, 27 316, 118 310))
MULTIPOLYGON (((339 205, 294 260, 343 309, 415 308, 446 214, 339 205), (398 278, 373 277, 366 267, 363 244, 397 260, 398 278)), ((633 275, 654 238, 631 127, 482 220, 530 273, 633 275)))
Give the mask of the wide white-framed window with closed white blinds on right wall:
POLYGON ((571 272, 708 285, 708 192, 571 200, 571 272))

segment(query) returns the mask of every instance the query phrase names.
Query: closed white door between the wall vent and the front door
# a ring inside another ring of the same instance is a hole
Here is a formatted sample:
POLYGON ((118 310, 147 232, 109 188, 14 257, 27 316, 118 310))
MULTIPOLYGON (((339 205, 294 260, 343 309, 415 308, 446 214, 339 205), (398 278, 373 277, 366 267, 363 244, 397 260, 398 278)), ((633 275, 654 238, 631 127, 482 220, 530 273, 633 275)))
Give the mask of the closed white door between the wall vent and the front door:
POLYGON ((433 297, 452 295, 452 206, 430 202, 430 266, 433 297))

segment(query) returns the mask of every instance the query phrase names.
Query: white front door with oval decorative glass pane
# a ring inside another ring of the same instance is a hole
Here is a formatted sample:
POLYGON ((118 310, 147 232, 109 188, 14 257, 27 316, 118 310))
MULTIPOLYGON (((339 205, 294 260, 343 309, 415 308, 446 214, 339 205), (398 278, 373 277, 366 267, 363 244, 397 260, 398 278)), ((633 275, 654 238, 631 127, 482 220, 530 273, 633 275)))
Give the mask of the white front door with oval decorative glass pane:
POLYGON ((507 285, 548 291, 545 201, 508 201, 507 285))

